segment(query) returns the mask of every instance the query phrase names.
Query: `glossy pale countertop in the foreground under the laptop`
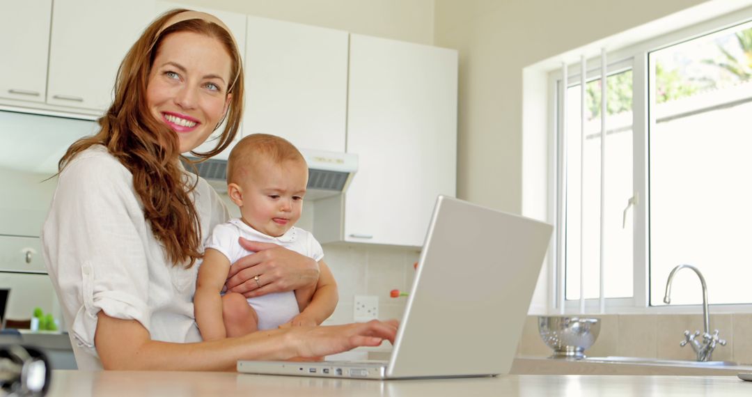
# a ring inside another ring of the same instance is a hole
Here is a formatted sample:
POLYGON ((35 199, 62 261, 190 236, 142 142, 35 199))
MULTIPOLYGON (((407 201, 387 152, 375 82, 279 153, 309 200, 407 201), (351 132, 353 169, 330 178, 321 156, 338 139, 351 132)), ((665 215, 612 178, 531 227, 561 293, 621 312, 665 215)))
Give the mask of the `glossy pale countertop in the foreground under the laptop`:
POLYGON ((222 372, 53 371, 49 396, 76 395, 660 395, 752 394, 752 382, 723 376, 503 375, 443 380, 353 380, 222 372))

